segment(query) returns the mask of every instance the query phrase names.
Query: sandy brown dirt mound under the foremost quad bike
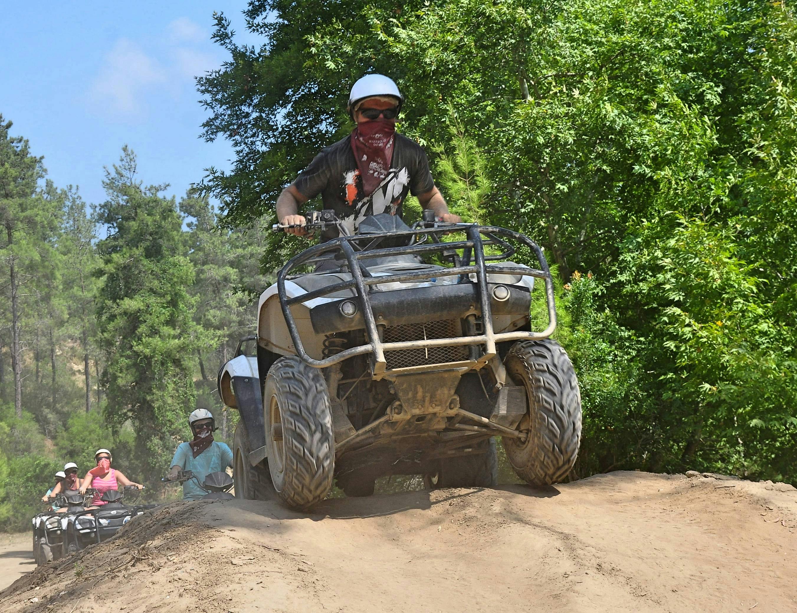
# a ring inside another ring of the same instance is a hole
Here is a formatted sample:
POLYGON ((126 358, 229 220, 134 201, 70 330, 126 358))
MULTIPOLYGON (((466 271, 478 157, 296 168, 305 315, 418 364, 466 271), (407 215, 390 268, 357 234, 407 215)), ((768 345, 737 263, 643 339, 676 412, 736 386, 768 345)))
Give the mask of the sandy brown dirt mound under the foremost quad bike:
POLYGON ((797 491, 777 487, 612 473, 309 517, 179 502, 22 577, 0 611, 797 611, 797 491))

